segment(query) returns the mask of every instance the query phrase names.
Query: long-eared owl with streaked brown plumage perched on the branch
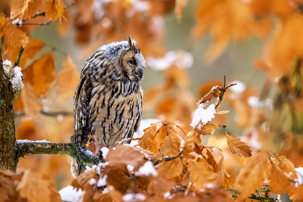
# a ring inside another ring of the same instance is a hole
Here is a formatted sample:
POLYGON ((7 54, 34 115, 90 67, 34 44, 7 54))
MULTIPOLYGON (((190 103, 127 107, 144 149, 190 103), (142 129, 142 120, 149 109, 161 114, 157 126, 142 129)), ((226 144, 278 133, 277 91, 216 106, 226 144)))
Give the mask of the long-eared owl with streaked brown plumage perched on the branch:
MULTIPOLYGON (((128 37, 94 52, 81 71, 74 96, 74 132, 77 146, 85 147, 87 135, 104 146, 132 137, 140 126, 145 59, 128 37)), ((73 177, 84 168, 72 159, 73 177)))

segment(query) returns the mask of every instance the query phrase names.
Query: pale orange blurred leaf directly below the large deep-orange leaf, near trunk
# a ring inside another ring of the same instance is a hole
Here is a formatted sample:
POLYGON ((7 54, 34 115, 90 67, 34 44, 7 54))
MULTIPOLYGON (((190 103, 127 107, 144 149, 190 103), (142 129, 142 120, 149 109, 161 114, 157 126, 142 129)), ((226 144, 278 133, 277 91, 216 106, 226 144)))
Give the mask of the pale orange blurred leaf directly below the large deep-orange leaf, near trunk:
POLYGON ((20 92, 20 97, 25 114, 28 116, 36 116, 40 111, 42 111, 43 105, 38 101, 40 96, 35 92, 31 84, 24 83, 24 87, 20 92))

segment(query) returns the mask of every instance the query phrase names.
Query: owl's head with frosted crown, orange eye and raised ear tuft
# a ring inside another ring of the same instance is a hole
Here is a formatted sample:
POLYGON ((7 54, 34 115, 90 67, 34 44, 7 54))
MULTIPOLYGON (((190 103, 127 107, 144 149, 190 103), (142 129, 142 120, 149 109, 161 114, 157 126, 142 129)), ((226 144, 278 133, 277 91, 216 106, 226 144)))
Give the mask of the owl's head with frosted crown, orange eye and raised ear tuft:
POLYGON ((116 71, 124 74, 130 81, 141 81, 146 61, 140 48, 130 37, 128 41, 106 45, 104 53, 108 59, 115 62, 116 71))

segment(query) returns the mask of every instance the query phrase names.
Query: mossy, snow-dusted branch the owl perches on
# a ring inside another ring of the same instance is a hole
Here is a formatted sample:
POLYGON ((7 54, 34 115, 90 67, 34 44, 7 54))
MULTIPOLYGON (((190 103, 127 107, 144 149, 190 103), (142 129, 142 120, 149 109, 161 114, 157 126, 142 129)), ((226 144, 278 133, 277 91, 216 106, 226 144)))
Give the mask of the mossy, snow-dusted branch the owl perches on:
POLYGON ((91 151, 82 147, 74 147, 74 137, 71 137, 72 143, 47 143, 37 141, 16 141, 16 158, 19 159, 30 154, 60 154, 68 155, 77 159, 84 167, 85 165, 93 166, 104 162, 102 158, 94 157, 91 151))

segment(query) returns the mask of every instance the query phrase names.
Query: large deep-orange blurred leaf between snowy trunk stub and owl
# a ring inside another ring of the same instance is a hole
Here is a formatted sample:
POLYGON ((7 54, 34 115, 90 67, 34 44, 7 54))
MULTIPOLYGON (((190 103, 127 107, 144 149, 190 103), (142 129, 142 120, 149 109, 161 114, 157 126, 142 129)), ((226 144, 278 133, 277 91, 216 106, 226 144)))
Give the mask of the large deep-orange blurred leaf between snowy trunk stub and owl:
POLYGON ((52 52, 41 55, 23 73, 25 82, 29 82, 38 94, 45 94, 55 79, 55 57, 52 52))

